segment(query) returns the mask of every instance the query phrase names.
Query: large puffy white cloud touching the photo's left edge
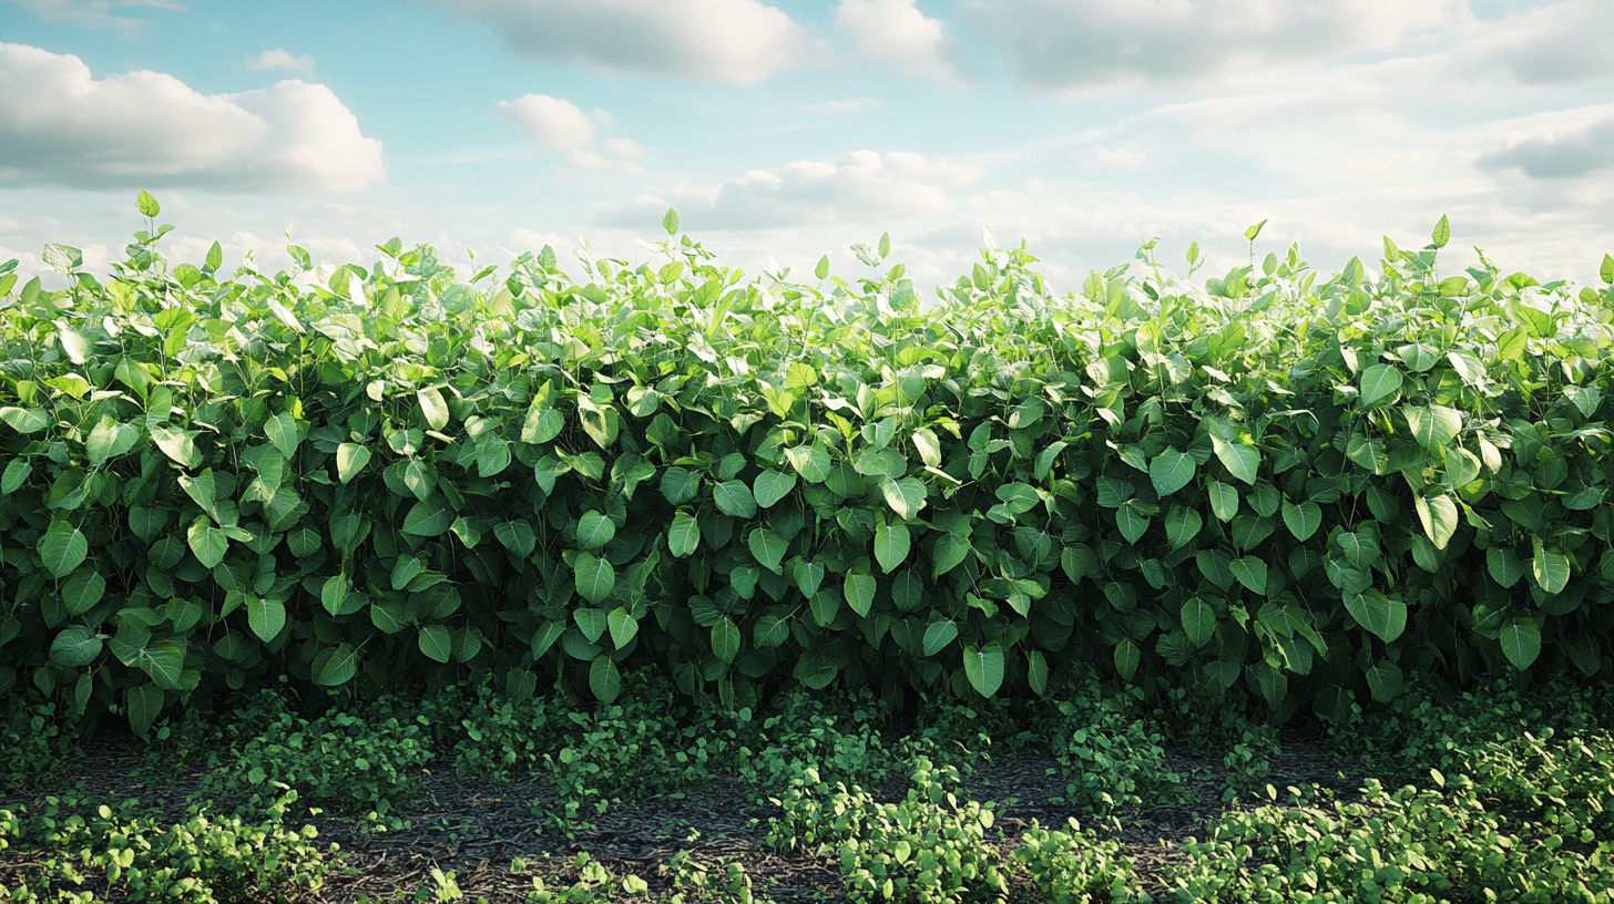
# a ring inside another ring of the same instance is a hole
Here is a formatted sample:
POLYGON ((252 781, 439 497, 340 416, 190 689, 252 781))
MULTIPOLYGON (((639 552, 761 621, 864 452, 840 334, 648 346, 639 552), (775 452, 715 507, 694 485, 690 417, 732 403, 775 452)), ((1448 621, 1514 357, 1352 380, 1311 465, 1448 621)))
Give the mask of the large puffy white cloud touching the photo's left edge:
POLYGON ((205 95, 173 76, 97 79, 82 60, 0 44, 0 186, 345 190, 386 178, 381 142, 331 89, 205 95))

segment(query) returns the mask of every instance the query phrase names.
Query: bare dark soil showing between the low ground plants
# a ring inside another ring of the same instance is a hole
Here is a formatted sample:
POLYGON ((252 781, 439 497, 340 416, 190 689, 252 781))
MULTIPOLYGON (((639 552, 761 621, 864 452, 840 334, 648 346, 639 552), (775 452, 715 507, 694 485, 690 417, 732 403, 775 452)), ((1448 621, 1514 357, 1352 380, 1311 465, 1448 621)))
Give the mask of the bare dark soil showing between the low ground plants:
MULTIPOLYGON (((1269 776, 1273 788, 1315 783, 1335 789, 1341 799, 1353 797, 1361 788, 1361 776, 1341 772, 1315 738, 1285 736, 1282 747, 1283 754, 1273 760, 1269 776)), ((1230 807, 1249 809, 1265 802, 1264 796, 1223 802, 1220 762, 1172 755, 1167 767, 1188 778, 1190 801, 1122 814, 1115 820, 1093 822, 1077 809, 1051 802, 1065 793, 1065 783, 1057 760, 1038 749, 976 764, 973 775, 964 780, 959 799, 996 802, 993 833, 999 838, 993 844, 1006 856, 1031 820, 1046 828, 1062 828, 1067 818, 1077 818, 1083 827, 1120 839, 1144 889, 1157 894, 1165 891, 1164 877, 1172 860, 1181 857, 1175 843, 1202 838, 1207 822, 1230 807)), ((97 801, 134 797, 142 801, 148 817, 173 822, 184 815, 186 799, 203 775, 168 772, 163 775, 152 768, 145 754, 128 741, 102 739, 84 757, 65 764, 61 772, 0 793, 0 809, 74 791, 97 801)), ((904 796, 902 781, 875 793, 880 801, 904 796)), ((232 804, 216 801, 216 810, 229 812, 232 804)), ((433 899, 431 870, 441 868, 455 873, 465 901, 525 902, 534 878, 542 878, 550 891, 576 881, 573 862, 578 852, 587 852, 617 878, 638 875, 649 883, 652 894, 663 894, 673 881, 668 864, 681 851, 709 865, 738 860, 759 899, 765 896, 784 904, 844 898, 833 852, 780 854, 765 844, 768 818, 778 809, 746 781, 717 780, 679 796, 612 802, 604 815, 589 815, 587 825, 573 827, 570 838, 557 828, 546 831, 544 820, 536 815, 555 809, 557 796, 547 778, 492 785, 460 778, 452 762, 433 760, 416 802, 392 814, 410 823, 407 830, 378 833, 368 830, 363 820, 329 814, 307 820, 320 830, 321 848, 337 843, 342 859, 326 875, 324 886, 305 901, 400 901, 413 899, 416 889, 433 899), (516 859, 525 862, 521 872, 512 872, 516 859)), ((15 875, 27 868, 29 860, 16 851, 0 856, 0 885, 16 885, 15 875)), ((118 901, 116 889, 103 898, 105 888, 84 888, 97 891, 98 901, 118 901)))

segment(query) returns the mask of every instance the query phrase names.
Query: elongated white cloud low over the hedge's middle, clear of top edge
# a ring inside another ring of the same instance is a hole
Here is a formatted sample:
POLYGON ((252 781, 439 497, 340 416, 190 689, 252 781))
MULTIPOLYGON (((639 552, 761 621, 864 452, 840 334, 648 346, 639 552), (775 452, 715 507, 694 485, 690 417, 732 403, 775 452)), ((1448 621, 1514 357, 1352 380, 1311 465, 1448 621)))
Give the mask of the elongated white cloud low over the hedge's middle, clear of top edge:
POLYGON ((791 229, 817 224, 878 224, 944 215, 955 207, 947 189, 981 178, 968 163, 930 160, 912 152, 859 150, 838 161, 799 160, 752 170, 712 189, 676 187, 668 199, 641 195, 602 208, 604 226, 639 226, 671 203, 691 228, 791 229))

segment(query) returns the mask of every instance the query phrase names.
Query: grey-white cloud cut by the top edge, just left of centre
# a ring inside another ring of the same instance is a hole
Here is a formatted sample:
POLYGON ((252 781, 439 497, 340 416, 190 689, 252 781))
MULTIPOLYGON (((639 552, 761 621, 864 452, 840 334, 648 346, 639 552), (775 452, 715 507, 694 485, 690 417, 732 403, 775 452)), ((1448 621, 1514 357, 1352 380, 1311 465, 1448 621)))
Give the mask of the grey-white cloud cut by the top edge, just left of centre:
POLYGON ((521 56, 607 73, 754 84, 815 52, 789 15, 759 0, 426 2, 486 21, 521 56))

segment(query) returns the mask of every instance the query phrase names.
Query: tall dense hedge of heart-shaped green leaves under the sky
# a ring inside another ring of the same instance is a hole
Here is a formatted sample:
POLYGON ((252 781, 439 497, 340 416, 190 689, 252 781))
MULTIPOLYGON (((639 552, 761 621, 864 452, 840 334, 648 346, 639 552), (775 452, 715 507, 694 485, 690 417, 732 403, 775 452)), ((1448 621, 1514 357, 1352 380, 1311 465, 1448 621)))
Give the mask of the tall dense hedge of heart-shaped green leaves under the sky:
POLYGON ((671 211, 668 263, 584 284, 395 239, 229 276, 139 205, 105 279, 61 245, 63 289, 0 274, 0 686, 63 712, 1098 663, 1286 714, 1611 668, 1614 289, 1441 274, 1445 220, 1377 278, 1291 247, 1199 286, 1151 242, 1056 295, 988 247, 922 300, 902 265, 742 282, 671 211))

